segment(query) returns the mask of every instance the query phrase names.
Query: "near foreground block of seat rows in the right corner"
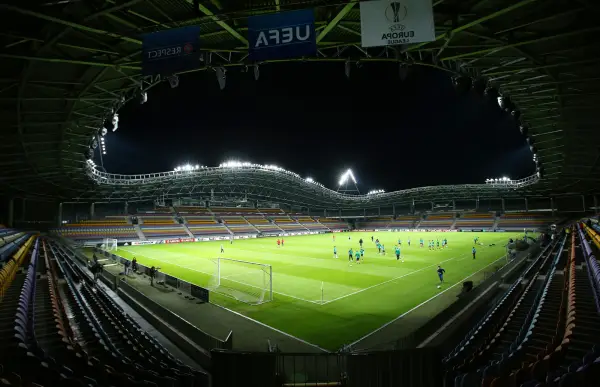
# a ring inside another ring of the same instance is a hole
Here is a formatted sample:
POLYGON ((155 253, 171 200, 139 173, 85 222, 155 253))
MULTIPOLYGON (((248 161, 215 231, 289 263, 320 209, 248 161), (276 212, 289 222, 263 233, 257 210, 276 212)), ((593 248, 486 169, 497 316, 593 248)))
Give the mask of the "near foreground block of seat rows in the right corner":
POLYGON ((600 309, 585 245, 574 229, 532 262, 448 356, 446 385, 596 385, 600 309))

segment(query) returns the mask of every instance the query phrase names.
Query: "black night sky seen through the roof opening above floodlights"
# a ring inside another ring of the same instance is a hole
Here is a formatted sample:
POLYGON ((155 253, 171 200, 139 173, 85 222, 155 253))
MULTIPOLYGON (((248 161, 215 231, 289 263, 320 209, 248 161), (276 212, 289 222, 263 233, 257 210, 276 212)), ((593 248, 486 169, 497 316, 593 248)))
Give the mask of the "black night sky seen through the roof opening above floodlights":
POLYGON ((163 83, 148 102, 120 112, 107 136, 113 173, 172 170, 236 159, 275 164, 337 188, 351 168, 361 191, 481 183, 528 176, 531 153, 514 120, 445 73, 416 67, 400 81, 394 64, 292 63, 231 69, 220 91, 212 72, 163 83))

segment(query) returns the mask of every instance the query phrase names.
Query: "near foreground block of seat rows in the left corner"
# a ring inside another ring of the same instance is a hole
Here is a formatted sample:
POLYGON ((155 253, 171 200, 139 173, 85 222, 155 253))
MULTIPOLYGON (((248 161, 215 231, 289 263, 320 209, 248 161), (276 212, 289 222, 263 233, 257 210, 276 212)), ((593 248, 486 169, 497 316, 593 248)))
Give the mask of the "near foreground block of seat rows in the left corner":
POLYGON ((27 270, 0 304, 1 385, 208 385, 204 372, 176 360, 59 245, 36 240, 20 263, 27 270))

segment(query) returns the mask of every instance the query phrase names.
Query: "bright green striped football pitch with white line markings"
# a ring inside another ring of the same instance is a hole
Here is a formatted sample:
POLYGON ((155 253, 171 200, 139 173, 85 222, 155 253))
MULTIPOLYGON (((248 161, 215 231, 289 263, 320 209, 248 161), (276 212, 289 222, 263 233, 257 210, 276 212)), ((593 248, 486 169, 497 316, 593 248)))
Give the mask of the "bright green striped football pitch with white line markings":
MULTIPOLYGON (((221 260, 221 292, 211 302, 277 328, 326 349, 359 340, 382 325, 415 310, 463 281, 481 278, 505 263, 505 244, 518 233, 352 232, 285 238, 157 244, 119 247, 117 254, 137 257, 199 286, 215 284, 216 258, 256 262, 272 267, 273 300, 250 305, 240 300, 259 297, 265 275, 260 267, 221 260), (335 239, 334 239, 335 236, 335 239), (386 255, 377 252, 371 236, 379 239, 386 255), (474 237, 479 237, 472 258, 474 237), (419 247, 419 238, 425 247, 419 247), (350 263, 348 250, 364 241, 364 258, 350 263), (411 245, 408 246, 408 239, 411 245), (430 251, 430 239, 448 239, 446 249, 430 251), (402 241, 397 261, 394 246, 402 241), (221 245, 225 252, 221 254, 221 245), (333 255, 337 247, 338 258, 333 255), (446 274, 438 288, 437 265, 446 274)), ((438 310, 439 312, 439 310, 438 310)), ((432 317, 432 316, 431 316, 432 317)))

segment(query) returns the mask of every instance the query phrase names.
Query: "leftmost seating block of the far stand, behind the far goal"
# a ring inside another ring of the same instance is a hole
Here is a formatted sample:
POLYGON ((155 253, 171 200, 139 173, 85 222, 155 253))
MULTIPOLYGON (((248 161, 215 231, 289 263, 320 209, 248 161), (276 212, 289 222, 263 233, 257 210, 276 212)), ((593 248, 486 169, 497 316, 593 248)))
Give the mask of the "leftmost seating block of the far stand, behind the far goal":
POLYGON ((135 228, 125 217, 86 220, 50 230, 55 235, 73 240, 98 241, 104 238, 138 239, 135 228))

